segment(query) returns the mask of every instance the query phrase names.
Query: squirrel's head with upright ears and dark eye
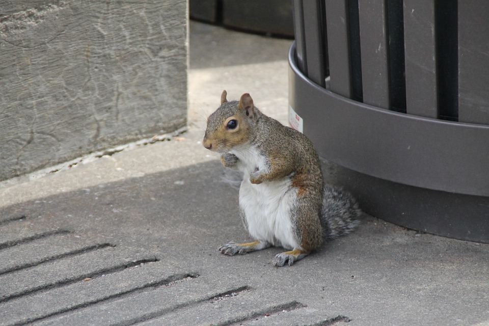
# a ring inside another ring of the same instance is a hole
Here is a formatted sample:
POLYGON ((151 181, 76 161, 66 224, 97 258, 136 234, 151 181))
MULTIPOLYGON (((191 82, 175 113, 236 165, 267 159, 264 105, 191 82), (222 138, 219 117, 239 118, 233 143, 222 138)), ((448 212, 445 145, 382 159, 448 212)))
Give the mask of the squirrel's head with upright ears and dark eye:
POLYGON ((226 95, 226 91, 223 91, 221 106, 207 119, 202 142, 205 148, 220 153, 250 140, 256 114, 250 94, 241 95, 239 102, 228 102, 226 95))

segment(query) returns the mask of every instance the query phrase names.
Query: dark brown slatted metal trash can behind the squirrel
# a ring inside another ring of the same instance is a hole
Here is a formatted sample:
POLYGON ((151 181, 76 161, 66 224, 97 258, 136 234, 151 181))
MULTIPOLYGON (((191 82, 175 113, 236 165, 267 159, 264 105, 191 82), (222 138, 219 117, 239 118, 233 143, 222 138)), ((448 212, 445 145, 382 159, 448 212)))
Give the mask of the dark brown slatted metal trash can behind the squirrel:
POLYGON ((489 243, 489 2, 294 0, 291 124, 364 211, 489 243))

